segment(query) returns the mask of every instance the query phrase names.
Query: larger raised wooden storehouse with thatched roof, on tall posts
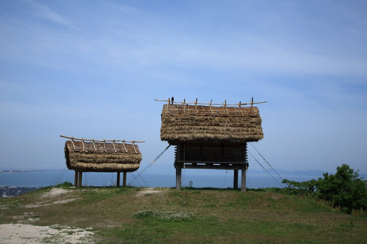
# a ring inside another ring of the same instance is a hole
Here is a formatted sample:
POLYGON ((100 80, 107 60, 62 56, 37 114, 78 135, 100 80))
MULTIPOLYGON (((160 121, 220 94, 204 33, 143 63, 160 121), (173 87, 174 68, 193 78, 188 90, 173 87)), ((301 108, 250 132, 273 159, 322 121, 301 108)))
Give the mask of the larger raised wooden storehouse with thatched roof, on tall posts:
POLYGON ((259 109, 253 106, 256 103, 203 106, 197 101, 163 101, 168 103, 163 105, 160 135, 176 146, 176 188, 181 187, 182 168, 218 169, 234 170, 234 188, 241 170, 241 190, 246 191, 247 142, 264 137, 259 109))

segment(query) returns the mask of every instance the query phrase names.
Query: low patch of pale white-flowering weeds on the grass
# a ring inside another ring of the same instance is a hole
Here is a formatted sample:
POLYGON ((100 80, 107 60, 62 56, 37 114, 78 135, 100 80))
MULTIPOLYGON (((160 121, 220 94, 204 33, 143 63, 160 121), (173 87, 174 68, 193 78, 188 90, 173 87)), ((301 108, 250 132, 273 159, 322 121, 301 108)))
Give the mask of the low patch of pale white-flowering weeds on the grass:
POLYGON ((135 218, 155 218, 158 220, 182 222, 190 221, 195 218, 195 214, 191 212, 173 212, 166 210, 141 210, 133 214, 135 218))

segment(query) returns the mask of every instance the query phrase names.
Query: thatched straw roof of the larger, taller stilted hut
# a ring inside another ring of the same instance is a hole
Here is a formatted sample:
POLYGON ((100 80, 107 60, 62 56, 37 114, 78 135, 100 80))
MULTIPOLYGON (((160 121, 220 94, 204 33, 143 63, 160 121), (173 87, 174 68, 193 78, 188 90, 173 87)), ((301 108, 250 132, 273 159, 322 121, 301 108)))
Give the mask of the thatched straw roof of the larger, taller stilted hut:
POLYGON ((177 142, 258 141, 264 137, 257 107, 163 105, 161 140, 177 142))

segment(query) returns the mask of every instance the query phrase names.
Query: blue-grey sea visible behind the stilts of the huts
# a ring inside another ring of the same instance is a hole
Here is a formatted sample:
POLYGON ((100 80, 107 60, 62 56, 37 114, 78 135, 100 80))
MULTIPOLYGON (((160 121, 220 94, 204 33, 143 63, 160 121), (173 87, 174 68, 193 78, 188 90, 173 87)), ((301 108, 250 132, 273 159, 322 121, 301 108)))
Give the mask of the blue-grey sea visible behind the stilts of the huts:
MULTIPOLYGON (((323 177, 323 171, 282 171, 276 170, 278 176, 272 169, 266 171, 249 169, 246 175, 246 185, 248 188, 267 188, 284 187, 281 184, 282 179, 292 181, 308 181, 323 177), (280 178, 281 177, 281 178, 280 178)), ((240 186, 240 171, 238 172, 238 186, 240 186)), ((114 186, 116 185, 116 173, 83 173, 83 186, 114 186)), ((121 174, 121 185, 123 175, 121 174)), ((1 186, 16 187, 46 187, 53 186, 63 182, 74 183, 74 171, 54 170, 42 172, 21 172, 21 173, 0 173, 1 186)), ((128 173, 127 184, 135 187, 174 187, 175 175, 172 166, 172 173, 162 171, 151 171, 138 174, 138 172, 128 173)), ((195 188, 232 188, 233 171, 217 170, 182 170, 182 186, 195 188)))

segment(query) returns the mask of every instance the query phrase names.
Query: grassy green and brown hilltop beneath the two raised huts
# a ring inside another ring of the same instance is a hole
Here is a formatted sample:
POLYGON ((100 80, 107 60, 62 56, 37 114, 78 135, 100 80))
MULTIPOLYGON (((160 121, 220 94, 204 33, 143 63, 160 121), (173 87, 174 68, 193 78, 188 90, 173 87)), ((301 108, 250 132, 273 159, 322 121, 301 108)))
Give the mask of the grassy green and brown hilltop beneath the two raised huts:
POLYGON ((0 224, 5 223, 92 227, 95 242, 350 243, 367 239, 366 216, 348 215, 313 199, 270 189, 241 193, 48 188, 0 199, 0 224))

